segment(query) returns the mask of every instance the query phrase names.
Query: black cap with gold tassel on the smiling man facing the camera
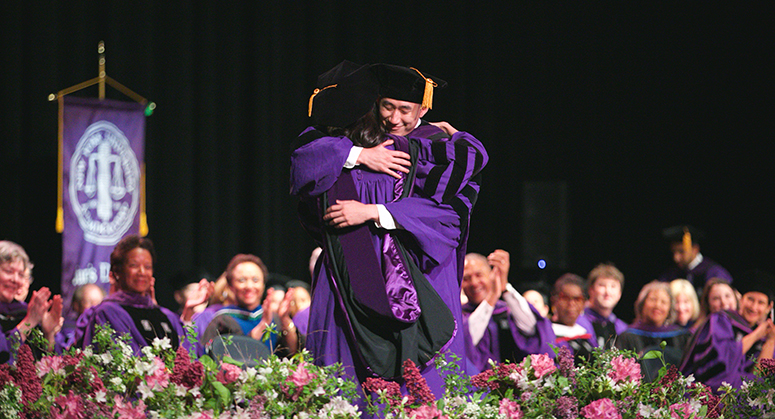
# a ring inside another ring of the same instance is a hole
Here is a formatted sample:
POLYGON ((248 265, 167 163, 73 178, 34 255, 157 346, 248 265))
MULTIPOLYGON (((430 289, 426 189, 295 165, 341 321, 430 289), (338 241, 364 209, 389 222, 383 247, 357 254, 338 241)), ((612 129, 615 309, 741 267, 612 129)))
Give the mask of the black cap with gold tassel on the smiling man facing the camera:
POLYGON ((447 86, 444 80, 414 67, 390 64, 374 64, 371 67, 379 78, 380 96, 419 103, 428 109, 433 106, 433 89, 447 86))

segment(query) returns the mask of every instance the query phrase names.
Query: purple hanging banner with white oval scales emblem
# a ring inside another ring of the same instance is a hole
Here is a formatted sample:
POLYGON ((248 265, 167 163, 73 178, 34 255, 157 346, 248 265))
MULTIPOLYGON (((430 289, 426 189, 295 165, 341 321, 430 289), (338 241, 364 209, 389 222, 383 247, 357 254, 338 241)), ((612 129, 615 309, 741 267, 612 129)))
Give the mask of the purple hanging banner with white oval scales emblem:
POLYGON ((145 149, 143 106, 64 97, 62 299, 66 320, 76 288, 110 287, 110 252, 140 226, 140 168, 145 149))

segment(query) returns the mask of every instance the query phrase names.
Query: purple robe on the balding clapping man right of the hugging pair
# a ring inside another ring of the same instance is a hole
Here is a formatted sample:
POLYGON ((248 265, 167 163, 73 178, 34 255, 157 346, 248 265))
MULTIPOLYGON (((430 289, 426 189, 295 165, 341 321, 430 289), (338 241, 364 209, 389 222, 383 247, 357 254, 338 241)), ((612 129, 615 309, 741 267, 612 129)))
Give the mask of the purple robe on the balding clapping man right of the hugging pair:
POLYGON ((492 317, 490 317, 490 322, 487 325, 487 329, 484 331, 484 335, 482 335, 482 339, 474 345, 468 332, 468 318, 471 316, 471 313, 476 310, 476 306, 471 303, 463 305, 463 331, 466 338, 466 356, 468 356, 469 362, 477 368, 476 373, 489 368, 488 361, 490 359, 496 362, 503 362, 508 359, 512 363, 517 363, 531 354, 547 354, 554 358, 554 351, 550 346, 556 339, 554 331, 552 330, 552 322, 551 320, 542 317, 532 304, 530 305, 530 309, 533 311, 533 315, 537 320, 536 331, 532 336, 526 336, 517 327, 508 305, 505 302, 498 300, 495 303, 492 317), (503 314, 506 314, 506 316, 503 316, 503 314), (512 355, 503 354, 506 355, 506 357, 510 356, 505 359, 501 354, 501 349, 505 348, 501 348, 501 333, 498 320, 502 317, 505 317, 508 322, 510 335, 516 346, 515 348, 512 348, 514 351, 512 355))

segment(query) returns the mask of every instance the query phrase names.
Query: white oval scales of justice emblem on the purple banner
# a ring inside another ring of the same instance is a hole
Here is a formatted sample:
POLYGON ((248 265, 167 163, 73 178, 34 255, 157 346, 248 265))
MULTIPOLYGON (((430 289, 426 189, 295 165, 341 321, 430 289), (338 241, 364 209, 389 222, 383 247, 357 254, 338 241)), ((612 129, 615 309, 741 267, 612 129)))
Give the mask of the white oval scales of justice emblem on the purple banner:
POLYGON ((135 220, 140 189, 137 156, 118 127, 98 121, 86 128, 70 160, 68 189, 84 239, 118 243, 135 220))

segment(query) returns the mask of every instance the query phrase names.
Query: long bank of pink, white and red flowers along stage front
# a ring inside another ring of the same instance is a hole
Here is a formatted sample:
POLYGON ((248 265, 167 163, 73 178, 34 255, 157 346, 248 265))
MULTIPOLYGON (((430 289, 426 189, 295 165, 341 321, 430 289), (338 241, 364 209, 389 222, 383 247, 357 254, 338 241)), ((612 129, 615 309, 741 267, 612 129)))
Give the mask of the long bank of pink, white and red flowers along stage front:
MULTIPOLYGON (((225 357, 198 359, 156 339, 137 356, 110 328, 94 344, 35 361, 27 345, 15 363, 0 365, 3 418, 353 418, 361 412, 356 385, 339 365, 319 367, 308 353, 269 357, 246 367, 225 357)), ((652 351, 644 358, 660 358, 652 351)), ((520 363, 492 363, 473 377, 460 359, 437 357, 444 394, 429 389, 412 361, 401 382, 363 383, 367 412, 406 419, 683 419, 775 418, 775 360, 763 360, 741 389, 715 395, 675 366, 644 382, 635 355, 597 351, 576 364, 561 348, 554 359, 535 354, 520 363), (401 383, 406 394, 402 393, 401 383)))

